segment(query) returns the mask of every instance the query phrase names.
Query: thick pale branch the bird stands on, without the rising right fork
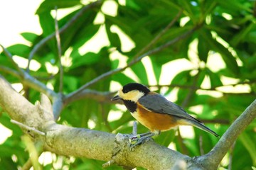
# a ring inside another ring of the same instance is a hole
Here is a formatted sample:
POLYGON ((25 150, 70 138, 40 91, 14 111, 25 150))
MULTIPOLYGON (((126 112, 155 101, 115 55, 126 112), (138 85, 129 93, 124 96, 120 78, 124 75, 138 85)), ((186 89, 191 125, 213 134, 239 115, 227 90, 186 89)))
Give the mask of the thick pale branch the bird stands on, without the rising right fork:
POLYGON ((126 135, 117 144, 114 142, 115 135, 107 132, 58 125, 53 121, 50 101, 45 95, 42 96, 41 104, 37 103, 33 106, 2 77, 0 77, 0 106, 12 119, 44 132, 45 136, 33 135, 34 140, 42 140, 45 149, 56 154, 105 161, 114 159, 114 162, 123 166, 144 166, 147 169, 170 169, 178 160, 191 161, 190 157, 156 145, 154 142, 146 142, 134 152, 130 152, 126 135))

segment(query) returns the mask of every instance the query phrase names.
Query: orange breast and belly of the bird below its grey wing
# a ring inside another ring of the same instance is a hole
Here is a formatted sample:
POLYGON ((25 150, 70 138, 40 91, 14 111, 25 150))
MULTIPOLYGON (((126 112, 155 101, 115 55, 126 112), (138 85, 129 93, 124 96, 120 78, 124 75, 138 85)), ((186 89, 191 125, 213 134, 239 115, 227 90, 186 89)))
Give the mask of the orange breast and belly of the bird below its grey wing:
POLYGON ((137 112, 132 113, 132 115, 139 121, 139 123, 142 123, 142 125, 146 126, 146 128, 149 128, 151 131, 170 130, 178 125, 176 118, 173 116, 148 111, 139 103, 137 103, 137 112))

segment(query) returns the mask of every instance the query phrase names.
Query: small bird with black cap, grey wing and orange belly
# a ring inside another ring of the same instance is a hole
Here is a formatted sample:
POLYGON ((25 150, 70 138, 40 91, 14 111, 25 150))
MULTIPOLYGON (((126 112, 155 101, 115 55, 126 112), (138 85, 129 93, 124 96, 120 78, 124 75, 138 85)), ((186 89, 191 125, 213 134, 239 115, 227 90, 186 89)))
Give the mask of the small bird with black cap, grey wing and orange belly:
POLYGON ((146 138, 159 135, 161 131, 170 130, 178 125, 193 125, 219 137, 199 120, 188 115, 180 106, 168 101, 164 96, 150 91, 142 84, 130 83, 123 86, 118 91, 118 95, 112 98, 112 101, 119 99, 124 102, 132 116, 151 131, 132 137, 132 140, 137 142, 142 143, 146 138))

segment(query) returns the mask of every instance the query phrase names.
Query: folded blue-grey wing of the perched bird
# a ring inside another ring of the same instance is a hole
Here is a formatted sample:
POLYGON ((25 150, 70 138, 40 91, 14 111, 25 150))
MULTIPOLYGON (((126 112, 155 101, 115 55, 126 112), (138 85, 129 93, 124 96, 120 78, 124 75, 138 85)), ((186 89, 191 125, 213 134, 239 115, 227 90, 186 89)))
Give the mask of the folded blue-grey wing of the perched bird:
POLYGON ((164 98, 164 96, 161 96, 160 94, 148 94, 140 98, 139 103, 141 103, 150 111, 154 111, 156 113, 174 115, 178 118, 184 118, 201 123, 199 120, 196 120, 196 118, 188 115, 188 113, 186 113, 183 108, 176 105, 175 103, 172 103, 171 101, 168 101, 166 98, 164 98))

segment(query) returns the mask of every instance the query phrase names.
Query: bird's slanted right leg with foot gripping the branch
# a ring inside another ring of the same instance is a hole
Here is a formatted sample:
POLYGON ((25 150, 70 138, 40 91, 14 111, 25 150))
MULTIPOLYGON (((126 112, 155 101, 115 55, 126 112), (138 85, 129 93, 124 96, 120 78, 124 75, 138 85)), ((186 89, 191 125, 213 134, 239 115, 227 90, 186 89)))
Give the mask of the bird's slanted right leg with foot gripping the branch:
POLYGON ((140 145, 147 140, 150 140, 152 136, 159 135, 160 131, 154 131, 154 132, 146 132, 138 135, 132 135, 132 137, 129 137, 130 142, 130 149, 134 148, 137 145, 140 145))

